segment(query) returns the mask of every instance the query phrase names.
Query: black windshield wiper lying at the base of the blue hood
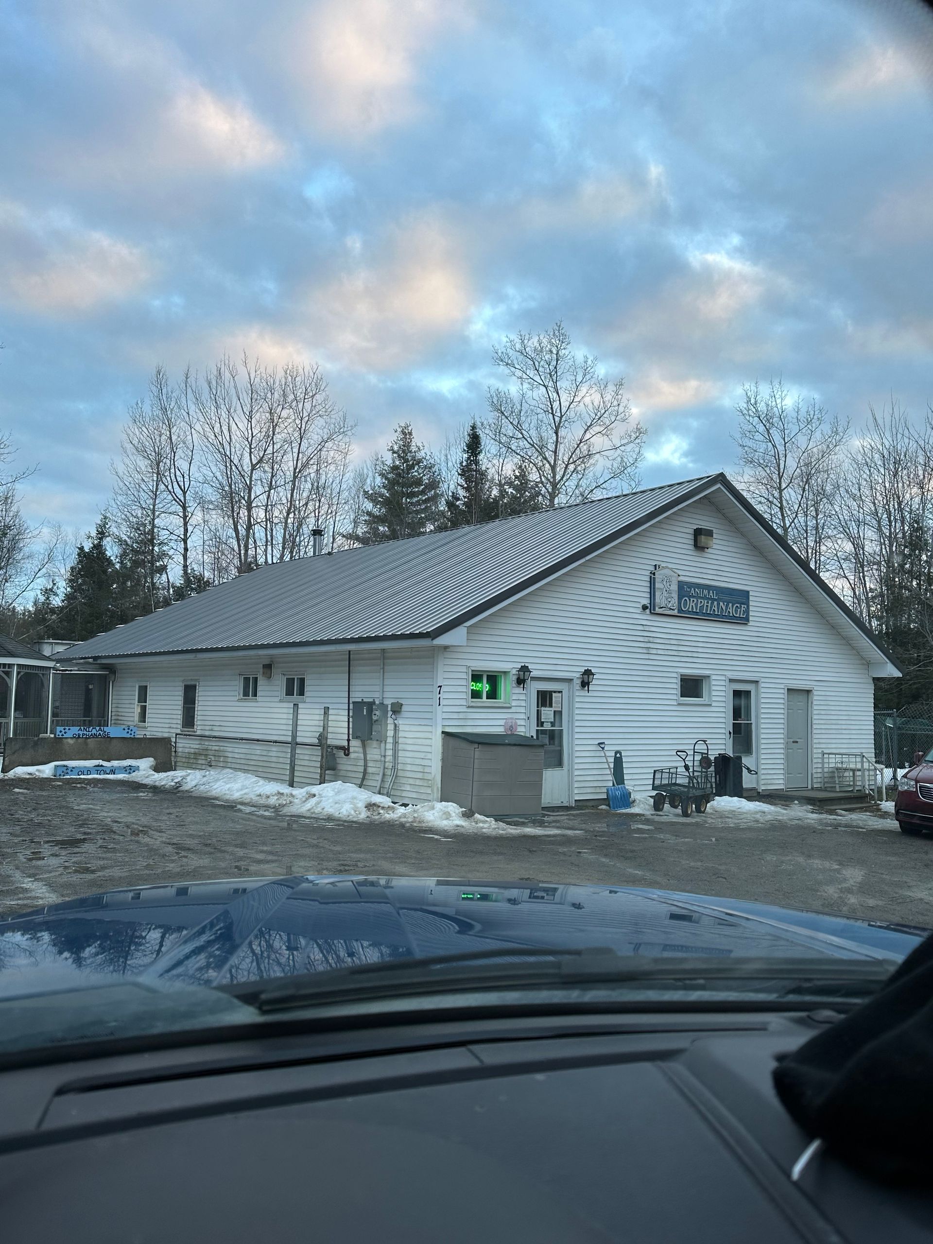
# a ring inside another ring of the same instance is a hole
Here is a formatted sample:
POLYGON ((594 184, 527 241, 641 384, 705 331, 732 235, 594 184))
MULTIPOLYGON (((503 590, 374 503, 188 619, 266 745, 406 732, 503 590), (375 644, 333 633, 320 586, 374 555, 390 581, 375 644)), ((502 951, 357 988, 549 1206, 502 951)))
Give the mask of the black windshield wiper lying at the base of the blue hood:
POLYGON ((780 1000, 816 994, 858 1000, 873 994, 893 962, 862 959, 724 959, 704 955, 622 955, 608 947, 496 947, 430 958, 388 959, 328 972, 218 985, 267 1013, 331 1001, 403 998, 452 990, 535 985, 632 984, 639 988, 766 993, 780 1000))

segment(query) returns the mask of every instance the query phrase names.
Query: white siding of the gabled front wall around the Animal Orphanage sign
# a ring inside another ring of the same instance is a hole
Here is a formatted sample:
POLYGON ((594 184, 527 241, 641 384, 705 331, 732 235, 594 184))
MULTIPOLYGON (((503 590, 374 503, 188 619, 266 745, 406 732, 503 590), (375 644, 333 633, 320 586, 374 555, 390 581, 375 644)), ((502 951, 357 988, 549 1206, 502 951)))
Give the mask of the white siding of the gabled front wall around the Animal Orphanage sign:
MULTIPOLYGON (((775 550, 775 560, 780 562, 775 550)), ((820 751, 872 754, 873 685, 867 663, 707 498, 684 506, 613 549, 505 605, 468 629, 464 647, 444 653, 444 726, 500 731, 505 718, 526 730, 526 695, 511 705, 468 704, 470 668, 531 667, 532 678, 572 678, 575 799, 605 797, 606 763, 596 746, 624 756, 636 794, 651 771, 675 764, 675 748, 707 738, 726 750, 726 683, 759 684, 759 785, 784 789, 787 687, 812 687, 814 771, 820 751), (713 549, 693 547, 693 529, 713 527, 713 549), (644 612, 657 564, 684 578, 748 588, 748 626, 644 612), (580 674, 595 671, 590 694, 580 674), (703 672, 708 703, 688 709, 675 694, 678 674, 703 672)))

